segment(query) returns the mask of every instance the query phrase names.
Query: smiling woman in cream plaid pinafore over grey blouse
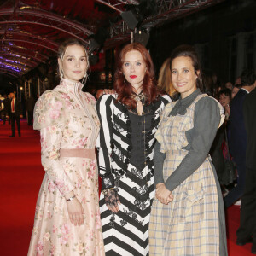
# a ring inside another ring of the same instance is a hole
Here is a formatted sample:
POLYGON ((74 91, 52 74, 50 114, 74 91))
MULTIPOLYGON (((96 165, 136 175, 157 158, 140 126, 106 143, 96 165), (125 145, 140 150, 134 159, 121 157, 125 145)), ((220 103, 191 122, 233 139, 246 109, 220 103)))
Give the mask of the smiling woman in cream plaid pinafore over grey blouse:
POLYGON ((201 67, 191 46, 173 50, 171 71, 180 98, 166 105, 155 134, 149 255, 225 256, 223 199, 207 156, 224 110, 201 93, 201 67))

